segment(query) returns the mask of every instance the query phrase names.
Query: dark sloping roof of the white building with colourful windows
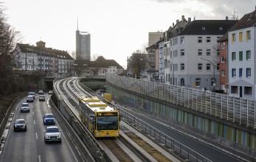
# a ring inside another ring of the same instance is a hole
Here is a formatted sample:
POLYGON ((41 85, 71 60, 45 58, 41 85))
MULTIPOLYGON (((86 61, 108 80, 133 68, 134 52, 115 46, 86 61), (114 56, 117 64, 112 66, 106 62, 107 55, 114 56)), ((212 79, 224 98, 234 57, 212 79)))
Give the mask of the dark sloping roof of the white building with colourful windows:
POLYGON ((232 29, 230 29, 230 31, 232 30, 237 30, 237 29, 243 29, 243 28, 247 28, 247 27, 255 27, 256 25, 256 10, 253 11, 252 13, 247 13, 246 15, 243 15, 243 18, 240 19, 240 21, 238 21, 237 24, 235 24, 232 29))

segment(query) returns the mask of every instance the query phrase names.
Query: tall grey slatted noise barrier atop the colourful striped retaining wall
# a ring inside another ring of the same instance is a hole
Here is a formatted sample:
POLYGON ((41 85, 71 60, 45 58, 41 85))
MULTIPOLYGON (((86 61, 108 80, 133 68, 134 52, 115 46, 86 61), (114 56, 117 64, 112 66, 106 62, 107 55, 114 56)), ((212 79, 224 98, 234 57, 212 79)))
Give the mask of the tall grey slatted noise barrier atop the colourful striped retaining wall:
POLYGON ((118 75, 108 74, 106 80, 111 84, 134 91, 137 94, 150 96, 154 99, 162 100, 162 102, 168 102, 201 113, 207 113, 226 121, 238 123, 244 127, 256 128, 256 102, 253 99, 118 75))

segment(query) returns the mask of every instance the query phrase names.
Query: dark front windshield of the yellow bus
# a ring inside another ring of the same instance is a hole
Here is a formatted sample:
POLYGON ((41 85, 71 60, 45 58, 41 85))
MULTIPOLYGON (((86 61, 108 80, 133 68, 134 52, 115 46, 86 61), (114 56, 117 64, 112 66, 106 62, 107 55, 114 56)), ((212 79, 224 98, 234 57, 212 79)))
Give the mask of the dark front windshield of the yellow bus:
POLYGON ((97 130, 118 130, 118 117, 97 116, 97 130))

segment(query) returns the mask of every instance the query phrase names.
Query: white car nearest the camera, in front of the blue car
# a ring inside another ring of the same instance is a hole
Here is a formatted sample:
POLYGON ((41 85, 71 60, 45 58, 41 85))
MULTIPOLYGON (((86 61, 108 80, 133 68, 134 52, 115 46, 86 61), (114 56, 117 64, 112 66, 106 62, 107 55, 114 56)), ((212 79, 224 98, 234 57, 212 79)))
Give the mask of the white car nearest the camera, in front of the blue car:
POLYGON ((59 141, 61 142, 61 130, 58 126, 49 126, 44 130, 44 141, 59 141))

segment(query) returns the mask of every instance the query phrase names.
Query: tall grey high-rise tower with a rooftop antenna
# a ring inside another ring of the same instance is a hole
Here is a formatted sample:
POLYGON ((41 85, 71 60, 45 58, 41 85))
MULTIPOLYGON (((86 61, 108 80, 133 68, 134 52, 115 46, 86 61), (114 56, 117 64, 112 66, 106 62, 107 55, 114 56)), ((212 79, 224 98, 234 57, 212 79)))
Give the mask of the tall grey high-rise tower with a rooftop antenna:
POLYGON ((91 60, 91 35, 89 32, 76 31, 76 59, 91 60))

